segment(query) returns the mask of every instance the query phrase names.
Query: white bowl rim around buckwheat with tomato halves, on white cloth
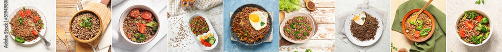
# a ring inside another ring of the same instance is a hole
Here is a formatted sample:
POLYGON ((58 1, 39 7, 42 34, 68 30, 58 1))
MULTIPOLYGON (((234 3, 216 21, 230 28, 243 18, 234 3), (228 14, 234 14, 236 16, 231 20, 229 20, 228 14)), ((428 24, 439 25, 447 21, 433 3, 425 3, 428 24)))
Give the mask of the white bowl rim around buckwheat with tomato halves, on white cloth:
POLYGON ((145 6, 145 5, 133 5, 129 8, 127 8, 126 10, 124 10, 124 12, 122 12, 122 15, 120 16, 120 21, 118 22, 118 27, 120 29, 120 34, 122 34, 122 37, 124 39, 126 39, 128 42, 130 43, 133 43, 133 44, 136 44, 136 45, 143 45, 143 44, 146 44, 150 41, 152 41, 153 39, 155 39, 155 37, 157 37, 157 35, 159 35, 159 29, 160 27, 162 27, 160 25, 161 22, 159 22, 159 16, 157 15, 157 13, 155 13, 154 10, 152 10, 150 7, 148 6, 145 6), (152 12, 152 17, 155 17, 155 19, 157 20, 157 23, 159 23, 159 27, 157 29, 157 31, 155 32, 155 36, 153 36, 152 38, 150 38, 148 41, 145 41, 145 42, 135 42, 135 41, 132 41, 131 39, 127 38, 127 35, 124 33, 124 30, 123 30, 123 21, 124 19, 126 19, 126 16, 131 12, 131 10, 133 10, 134 8, 138 8, 139 10, 149 10, 150 12, 152 12))

